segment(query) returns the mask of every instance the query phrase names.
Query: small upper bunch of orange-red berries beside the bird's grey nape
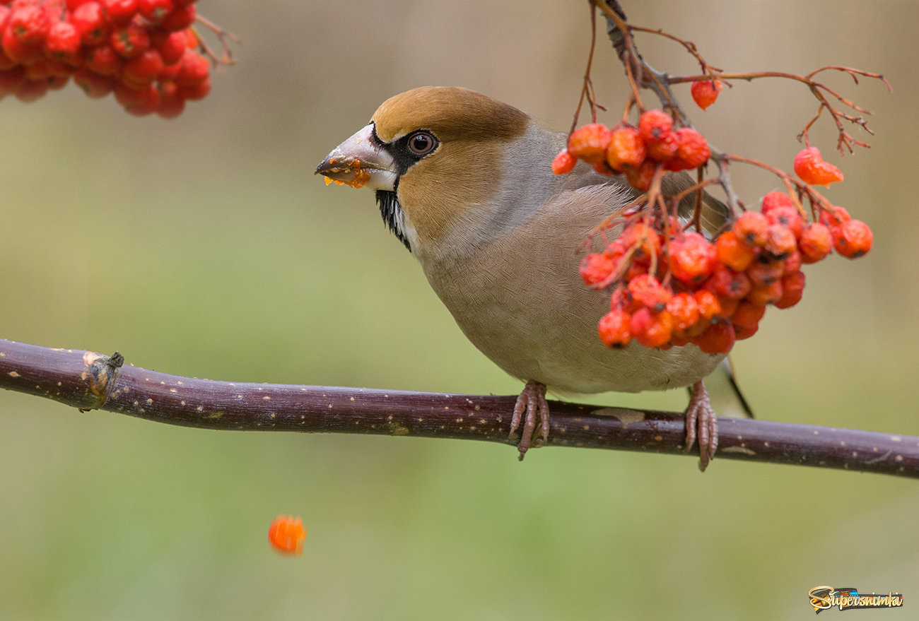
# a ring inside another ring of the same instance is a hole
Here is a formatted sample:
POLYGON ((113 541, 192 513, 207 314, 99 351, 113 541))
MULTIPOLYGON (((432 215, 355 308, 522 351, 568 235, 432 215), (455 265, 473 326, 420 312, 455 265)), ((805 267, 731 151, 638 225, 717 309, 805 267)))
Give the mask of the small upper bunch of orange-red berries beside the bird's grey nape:
POLYGON ((655 171, 689 170, 709 159, 709 143, 697 130, 674 127, 664 110, 646 110, 638 127, 622 122, 612 129, 591 123, 574 130, 568 146, 552 162, 556 175, 570 172, 584 160, 601 175, 624 173, 630 185, 647 190, 655 171))

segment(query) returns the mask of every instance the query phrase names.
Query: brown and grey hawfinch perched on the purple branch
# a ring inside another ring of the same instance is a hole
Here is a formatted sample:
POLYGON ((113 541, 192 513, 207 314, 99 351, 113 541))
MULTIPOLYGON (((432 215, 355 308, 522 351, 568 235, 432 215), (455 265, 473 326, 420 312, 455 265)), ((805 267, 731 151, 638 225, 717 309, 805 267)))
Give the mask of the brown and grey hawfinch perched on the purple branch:
MULTIPOLYGON (((693 344, 664 351, 600 342, 596 322, 608 299, 584 287, 578 247, 641 193, 621 175, 599 175, 583 163, 553 175, 550 163, 566 139, 474 91, 423 87, 385 101, 316 174, 376 190, 383 220, 421 263, 459 328, 527 382, 510 430, 513 436, 523 418, 521 458, 531 443, 548 442, 547 387, 562 393, 692 387, 686 450, 698 436, 704 469, 718 430, 702 378, 724 356, 693 344)), ((691 183, 687 175, 666 175, 664 192, 691 183)), ((727 210, 710 197, 703 208, 703 220, 716 231, 727 210)))

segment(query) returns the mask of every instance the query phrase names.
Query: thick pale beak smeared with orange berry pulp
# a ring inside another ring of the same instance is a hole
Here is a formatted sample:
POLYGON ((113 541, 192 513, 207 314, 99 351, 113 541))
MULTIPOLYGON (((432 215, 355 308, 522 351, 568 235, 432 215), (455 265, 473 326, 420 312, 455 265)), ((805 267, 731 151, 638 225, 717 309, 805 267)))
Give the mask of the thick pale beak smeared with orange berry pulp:
POLYGON ((395 165, 391 155, 373 140, 373 123, 339 144, 316 166, 316 175, 351 187, 368 186, 375 190, 393 190, 395 165))

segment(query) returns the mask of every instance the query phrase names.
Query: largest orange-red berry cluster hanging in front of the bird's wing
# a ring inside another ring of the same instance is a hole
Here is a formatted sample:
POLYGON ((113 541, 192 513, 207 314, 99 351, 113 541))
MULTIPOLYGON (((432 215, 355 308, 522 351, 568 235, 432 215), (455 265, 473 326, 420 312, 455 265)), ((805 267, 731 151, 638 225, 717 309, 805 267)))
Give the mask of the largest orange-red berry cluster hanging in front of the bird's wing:
POLYGON ((756 333, 766 306, 800 301, 801 265, 834 248, 854 258, 871 242, 868 225, 844 208, 822 209, 818 221, 806 221, 788 194, 770 192, 760 211, 744 211, 714 242, 684 231, 675 218, 634 214, 602 253, 584 257, 580 273, 588 287, 615 286, 598 324, 607 346, 634 339, 645 347, 695 344, 723 354, 756 333))

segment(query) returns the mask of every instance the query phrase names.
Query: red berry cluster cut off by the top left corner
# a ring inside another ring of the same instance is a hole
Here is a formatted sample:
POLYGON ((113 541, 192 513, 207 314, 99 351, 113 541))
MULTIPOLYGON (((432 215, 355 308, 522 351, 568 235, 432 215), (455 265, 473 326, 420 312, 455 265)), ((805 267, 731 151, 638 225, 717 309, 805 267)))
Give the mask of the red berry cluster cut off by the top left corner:
POLYGON ((33 101, 74 78, 128 112, 176 117, 210 93, 196 0, 0 0, 0 97, 33 101))

